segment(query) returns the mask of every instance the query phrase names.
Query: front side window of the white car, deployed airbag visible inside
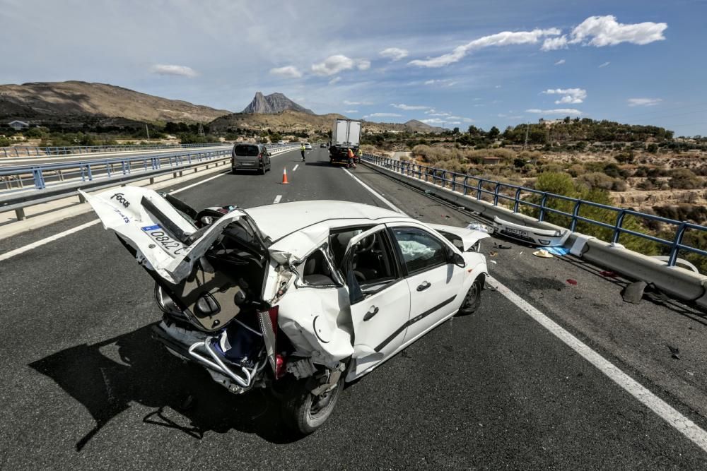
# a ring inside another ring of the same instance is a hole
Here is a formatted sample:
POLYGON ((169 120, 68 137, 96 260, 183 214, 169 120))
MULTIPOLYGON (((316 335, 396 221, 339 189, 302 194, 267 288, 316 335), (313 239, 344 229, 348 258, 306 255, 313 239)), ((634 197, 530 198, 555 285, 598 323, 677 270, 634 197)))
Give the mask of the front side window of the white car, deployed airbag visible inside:
POLYGON ((408 273, 428 270, 447 263, 445 244, 432 234, 416 227, 395 227, 392 230, 408 273))

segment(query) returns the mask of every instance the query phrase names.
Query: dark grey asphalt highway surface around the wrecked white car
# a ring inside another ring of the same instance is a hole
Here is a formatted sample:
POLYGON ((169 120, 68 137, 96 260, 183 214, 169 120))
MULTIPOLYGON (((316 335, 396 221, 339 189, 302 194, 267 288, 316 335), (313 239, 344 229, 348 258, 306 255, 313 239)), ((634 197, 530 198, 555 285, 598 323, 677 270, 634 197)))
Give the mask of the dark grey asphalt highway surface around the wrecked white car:
MULTIPOLYGON (((178 196, 197 207, 248 208, 277 196, 384 205, 326 156, 315 148, 303 164, 285 153, 265 176, 223 174, 178 196)), ((353 173, 421 220, 470 220, 371 169, 353 173)), ((93 218, 0 240, 0 253, 93 218)), ((624 304, 621 280, 578 259, 534 258, 496 239, 484 251, 498 252, 489 255, 495 278, 706 427, 699 313, 624 304), (669 344, 681 347, 680 359, 669 344)), ((453 318, 346 388, 327 424, 294 440, 264 395, 230 395, 149 338, 160 318, 152 282, 100 225, 0 263, 2 469, 707 467, 699 447, 496 291, 484 291, 476 314, 453 318)))

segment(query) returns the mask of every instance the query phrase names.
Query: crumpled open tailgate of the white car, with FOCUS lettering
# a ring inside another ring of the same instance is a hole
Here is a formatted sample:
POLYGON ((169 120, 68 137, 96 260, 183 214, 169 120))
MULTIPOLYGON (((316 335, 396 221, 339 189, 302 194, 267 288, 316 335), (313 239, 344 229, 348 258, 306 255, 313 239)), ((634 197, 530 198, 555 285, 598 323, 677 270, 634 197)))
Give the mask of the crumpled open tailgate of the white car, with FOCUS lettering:
POLYGON ((269 239, 245 211, 224 211, 210 225, 197 228, 196 211, 150 189, 124 186, 82 194, 103 226, 117 233, 197 328, 223 328, 240 311, 234 299, 245 299, 247 293, 250 301, 262 302, 269 239))

